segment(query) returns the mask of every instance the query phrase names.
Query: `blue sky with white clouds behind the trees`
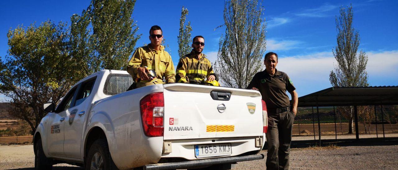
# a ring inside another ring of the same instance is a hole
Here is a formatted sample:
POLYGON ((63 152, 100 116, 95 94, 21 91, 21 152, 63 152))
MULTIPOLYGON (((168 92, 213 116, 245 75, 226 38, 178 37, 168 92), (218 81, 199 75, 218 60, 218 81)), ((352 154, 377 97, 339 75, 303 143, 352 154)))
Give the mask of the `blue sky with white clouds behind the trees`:
MULTIPOLYGON (((0 57, 9 48, 7 32, 18 25, 29 26, 50 19, 68 22, 70 16, 81 14, 89 0, 20 0, 0 1, 0 57)), ((329 73, 337 62, 332 54, 336 46, 336 22, 340 6, 353 6, 353 26, 359 31, 363 50, 368 56, 367 73, 371 86, 398 85, 398 1, 397 0, 287 0, 263 1, 267 23, 266 52, 279 56, 277 69, 289 75, 298 96, 332 87, 329 73)), ((173 62, 178 63, 179 18, 181 7, 189 10, 192 37, 205 37, 205 49, 211 62, 217 59, 219 39, 225 27, 223 0, 137 0, 133 19, 141 38, 136 47, 149 43, 152 25, 162 27, 173 62)), ((359 52, 359 51, 358 51, 359 52)), ((4 96, 0 95, 0 101, 4 96)))

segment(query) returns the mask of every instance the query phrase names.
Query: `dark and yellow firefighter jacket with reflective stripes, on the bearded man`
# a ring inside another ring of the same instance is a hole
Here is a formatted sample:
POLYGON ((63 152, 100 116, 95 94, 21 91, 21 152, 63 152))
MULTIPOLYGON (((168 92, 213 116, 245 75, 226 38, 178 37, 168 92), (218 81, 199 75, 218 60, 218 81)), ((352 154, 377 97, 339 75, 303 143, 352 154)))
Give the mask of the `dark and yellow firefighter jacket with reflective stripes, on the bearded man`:
POLYGON ((209 75, 214 75, 218 81, 218 76, 214 73, 211 62, 203 53, 198 60, 192 50, 178 62, 176 70, 176 81, 178 83, 203 83, 209 75))

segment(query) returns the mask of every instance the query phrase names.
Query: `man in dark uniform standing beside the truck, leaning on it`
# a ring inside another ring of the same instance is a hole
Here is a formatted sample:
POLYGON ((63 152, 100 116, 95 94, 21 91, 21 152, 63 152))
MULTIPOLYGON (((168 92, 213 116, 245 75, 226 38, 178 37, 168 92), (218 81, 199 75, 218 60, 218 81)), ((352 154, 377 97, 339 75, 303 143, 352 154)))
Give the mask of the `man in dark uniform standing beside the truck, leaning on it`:
POLYGON ((267 170, 289 169, 292 127, 298 104, 296 88, 286 73, 276 69, 278 54, 265 54, 264 64, 265 70, 256 73, 246 89, 258 90, 267 104, 267 170), (291 94, 292 106, 286 91, 291 94))

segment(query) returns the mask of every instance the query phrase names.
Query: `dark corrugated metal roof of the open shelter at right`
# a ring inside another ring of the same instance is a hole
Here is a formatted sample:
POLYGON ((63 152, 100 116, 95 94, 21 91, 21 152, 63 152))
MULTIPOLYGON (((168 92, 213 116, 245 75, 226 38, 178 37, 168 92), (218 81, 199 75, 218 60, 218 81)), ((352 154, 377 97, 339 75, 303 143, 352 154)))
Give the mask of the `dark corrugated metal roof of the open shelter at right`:
POLYGON ((298 98, 298 107, 398 104, 398 86, 330 87, 298 98))

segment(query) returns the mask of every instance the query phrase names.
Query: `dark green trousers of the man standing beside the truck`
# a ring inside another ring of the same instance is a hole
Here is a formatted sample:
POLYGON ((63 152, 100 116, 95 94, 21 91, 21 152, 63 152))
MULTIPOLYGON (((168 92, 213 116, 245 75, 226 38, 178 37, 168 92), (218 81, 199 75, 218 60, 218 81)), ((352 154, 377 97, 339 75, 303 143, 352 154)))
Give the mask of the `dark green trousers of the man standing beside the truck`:
POLYGON ((267 170, 289 169, 290 143, 295 114, 291 111, 268 113, 267 170))

